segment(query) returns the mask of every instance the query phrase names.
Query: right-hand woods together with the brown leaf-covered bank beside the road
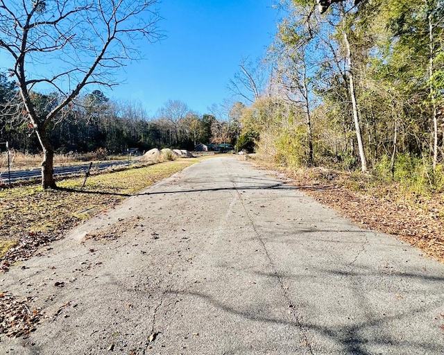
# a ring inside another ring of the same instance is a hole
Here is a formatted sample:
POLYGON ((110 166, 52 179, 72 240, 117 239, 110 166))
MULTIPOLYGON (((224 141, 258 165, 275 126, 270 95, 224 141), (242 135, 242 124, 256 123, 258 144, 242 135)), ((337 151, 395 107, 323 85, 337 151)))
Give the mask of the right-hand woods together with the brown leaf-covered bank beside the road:
POLYGON ((264 63, 234 78, 240 137, 316 199, 443 261, 443 1, 314 3, 280 1, 268 87, 264 63))

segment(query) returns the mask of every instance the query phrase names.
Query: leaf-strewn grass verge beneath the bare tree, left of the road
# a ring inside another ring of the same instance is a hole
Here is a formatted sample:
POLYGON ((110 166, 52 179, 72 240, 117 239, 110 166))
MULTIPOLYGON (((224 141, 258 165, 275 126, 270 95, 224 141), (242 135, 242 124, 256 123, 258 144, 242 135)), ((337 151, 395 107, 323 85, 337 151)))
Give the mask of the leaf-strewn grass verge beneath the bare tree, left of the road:
POLYGON ((35 184, 0 189, 0 269, 31 257, 38 247, 62 238, 64 232, 112 208, 124 198, 198 162, 176 159, 138 168, 58 182, 58 189, 35 184))

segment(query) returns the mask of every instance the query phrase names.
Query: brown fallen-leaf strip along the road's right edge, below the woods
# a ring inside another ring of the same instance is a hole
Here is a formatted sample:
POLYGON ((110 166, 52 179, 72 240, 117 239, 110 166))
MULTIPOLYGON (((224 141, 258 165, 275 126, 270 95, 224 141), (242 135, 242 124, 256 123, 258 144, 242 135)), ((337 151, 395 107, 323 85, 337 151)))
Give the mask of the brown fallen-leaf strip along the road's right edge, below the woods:
POLYGON ((396 236, 444 263, 444 194, 412 200, 398 184, 311 168, 287 172, 293 184, 355 223, 396 236))

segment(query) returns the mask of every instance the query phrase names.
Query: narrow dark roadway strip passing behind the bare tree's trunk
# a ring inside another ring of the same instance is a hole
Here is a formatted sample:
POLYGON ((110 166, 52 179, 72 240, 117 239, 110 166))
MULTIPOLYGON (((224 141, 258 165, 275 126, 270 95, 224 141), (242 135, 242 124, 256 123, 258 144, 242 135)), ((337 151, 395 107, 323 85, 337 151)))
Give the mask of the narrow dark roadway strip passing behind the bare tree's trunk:
MULTIPOLYGON (((134 160, 132 161, 135 162, 134 160)), ((93 163, 91 169, 93 170, 104 170, 105 168, 110 168, 112 166, 120 166, 120 165, 128 165, 131 162, 128 160, 119 160, 119 161, 112 161, 112 162, 99 162, 99 163, 93 163)), ((58 166, 54 168, 54 175, 55 176, 63 176, 63 175, 76 175, 76 174, 82 174, 86 173, 86 171, 89 168, 89 164, 81 164, 81 165, 71 165, 71 166, 58 166)), ((33 170, 16 170, 11 171, 10 175, 8 171, 3 171, 0 173, 0 184, 7 184, 10 182, 17 182, 17 181, 26 181, 26 180, 34 180, 34 179, 40 179, 42 176, 42 173, 40 171, 40 168, 34 168, 33 170)))

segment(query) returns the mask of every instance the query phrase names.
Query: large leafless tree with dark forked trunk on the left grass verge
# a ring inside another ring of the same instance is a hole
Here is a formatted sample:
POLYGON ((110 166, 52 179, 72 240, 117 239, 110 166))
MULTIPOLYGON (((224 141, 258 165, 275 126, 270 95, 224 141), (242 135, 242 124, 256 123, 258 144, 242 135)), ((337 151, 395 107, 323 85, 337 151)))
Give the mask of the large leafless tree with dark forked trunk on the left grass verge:
POLYGON ((0 0, 0 51, 10 58, 31 128, 42 146, 42 187, 56 188, 46 130, 69 112, 87 85, 117 85, 114 74, 137 59, 136 42, 160 38, 157 0, 0 0), (58 94, 49 112, 36 108, 38 88, 58 94))

